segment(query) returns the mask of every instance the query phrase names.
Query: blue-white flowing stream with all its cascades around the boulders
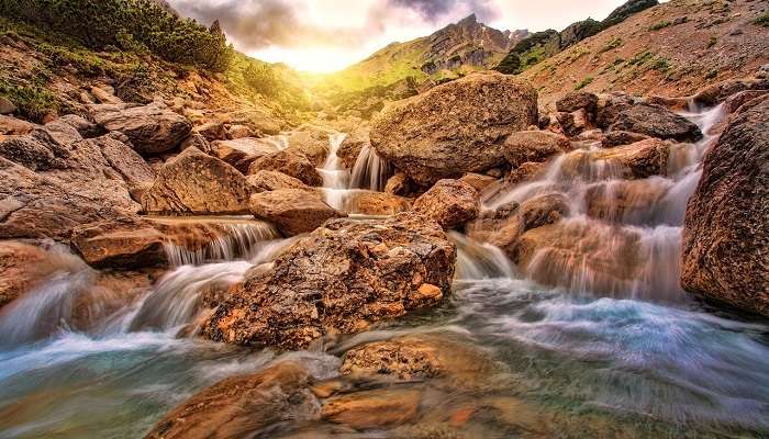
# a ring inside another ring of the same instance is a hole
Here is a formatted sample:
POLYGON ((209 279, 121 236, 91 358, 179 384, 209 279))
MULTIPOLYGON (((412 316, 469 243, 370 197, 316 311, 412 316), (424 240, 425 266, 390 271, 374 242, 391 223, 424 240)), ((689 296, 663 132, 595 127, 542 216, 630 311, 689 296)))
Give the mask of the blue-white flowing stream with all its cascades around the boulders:
MULTIPOLYGON (((450 233, 453 297, 356 337, 460 331, 509 368, 512 379, 494 394, 539 407, 562 437, 584 437, 586 423, 604 426, 605 438, 768 437, 769 325, 710 309, 678 285, 683 209, 723 114, 687 116, 709 135, 671 153, 669 177, 623 180, 586 146, 555 159, 537 181, 488 194, 484 206, 493 209, 562 193, 570 213, 525 267, 450 233), (592 209, 591 199, 605 209, 592 209)), ((344 169, 336 156, 343 138, 332 137, 321 169, 326 200, 338 209, 355 188, 381 190, 386 169, 368 150, 358 159, 365 170, 344 169)), ((57 250, 59 270, 0 313, 0 437, 138 438, 225 376, 285 358, 317 379, 337 373, 339 352, 280 354, 194 337, 207 301, 293 241, 261 223, 231 228, 198 252, 169 246, 175 267, 129 299, 57 250)), ((430 404, 421 409, 450 405, 430 404)))

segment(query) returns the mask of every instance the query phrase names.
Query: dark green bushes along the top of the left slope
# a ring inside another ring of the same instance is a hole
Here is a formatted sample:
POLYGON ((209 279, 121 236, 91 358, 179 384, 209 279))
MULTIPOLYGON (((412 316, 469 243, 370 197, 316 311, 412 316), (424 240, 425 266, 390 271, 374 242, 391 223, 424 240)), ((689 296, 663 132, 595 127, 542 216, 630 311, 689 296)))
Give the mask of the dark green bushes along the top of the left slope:
POLYGON ((224 71, 233 48, 218 22, 205 27, 155 0, 0 0, 0 15, 65 33, 93 49, 146 47, 172 63, 224 71))

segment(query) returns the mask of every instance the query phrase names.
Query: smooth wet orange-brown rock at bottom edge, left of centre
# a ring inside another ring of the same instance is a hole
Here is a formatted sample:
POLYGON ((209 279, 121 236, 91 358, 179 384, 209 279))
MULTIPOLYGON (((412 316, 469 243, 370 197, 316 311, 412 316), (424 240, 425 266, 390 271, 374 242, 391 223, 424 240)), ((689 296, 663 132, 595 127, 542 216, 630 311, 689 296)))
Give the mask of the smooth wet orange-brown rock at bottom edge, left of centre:
POLYGON ((289 361, 224 379, 166 414, 146 438, 267 437, 270 426, 315 420, 320 409, 307 389, 311 381, 304 368, 289 361))

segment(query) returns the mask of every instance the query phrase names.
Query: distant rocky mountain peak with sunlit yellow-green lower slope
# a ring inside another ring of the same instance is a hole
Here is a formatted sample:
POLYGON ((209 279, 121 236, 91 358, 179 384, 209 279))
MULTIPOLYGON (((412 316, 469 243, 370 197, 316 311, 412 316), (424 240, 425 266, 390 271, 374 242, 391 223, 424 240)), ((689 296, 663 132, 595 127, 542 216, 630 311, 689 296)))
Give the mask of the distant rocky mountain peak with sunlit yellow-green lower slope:
POLYGON ((392 43, 328 79, 346 90, 390 86, 413 77, 456 78, 458 74, 495 66, 528 31, 499 31, 480 23, 475 14, 432 35, 392 43))

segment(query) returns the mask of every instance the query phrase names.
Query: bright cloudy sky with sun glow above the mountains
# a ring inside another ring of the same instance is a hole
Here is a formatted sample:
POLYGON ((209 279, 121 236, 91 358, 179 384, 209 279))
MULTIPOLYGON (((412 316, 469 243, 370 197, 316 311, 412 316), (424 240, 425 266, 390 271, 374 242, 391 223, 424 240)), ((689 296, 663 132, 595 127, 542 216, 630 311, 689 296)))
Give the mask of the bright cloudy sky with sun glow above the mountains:
POLYGON ((335 71, 392 42, 430 35, 470 13, 504 30, 562 30, 602 20, 625 0, 167 0, 204 24, 219 20, 241 52, 298 70, 335 71))

